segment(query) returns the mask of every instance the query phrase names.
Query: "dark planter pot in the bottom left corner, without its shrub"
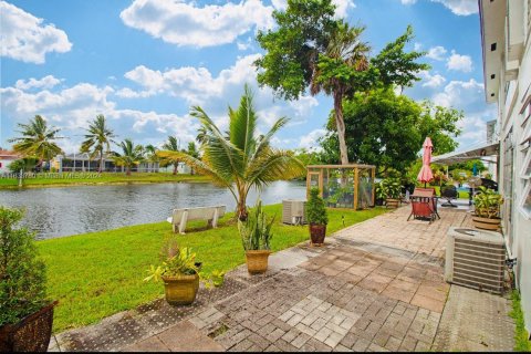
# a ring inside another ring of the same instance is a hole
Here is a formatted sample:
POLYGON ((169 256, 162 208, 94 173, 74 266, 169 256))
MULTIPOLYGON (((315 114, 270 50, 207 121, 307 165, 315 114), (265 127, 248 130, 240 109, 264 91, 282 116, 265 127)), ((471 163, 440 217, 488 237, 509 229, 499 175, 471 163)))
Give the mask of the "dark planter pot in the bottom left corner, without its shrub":
POLYGON ((56 301, 15 324, 0 327, 0 352, 46 352, 52 336, 56 301))

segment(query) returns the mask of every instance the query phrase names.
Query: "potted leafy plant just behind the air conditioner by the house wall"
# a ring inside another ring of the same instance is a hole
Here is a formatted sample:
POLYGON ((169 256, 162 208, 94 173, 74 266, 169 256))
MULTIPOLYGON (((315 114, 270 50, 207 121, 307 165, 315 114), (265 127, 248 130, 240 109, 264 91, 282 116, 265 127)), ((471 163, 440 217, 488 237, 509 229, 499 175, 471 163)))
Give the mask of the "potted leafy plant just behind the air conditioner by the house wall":
POLYGON ((473 226, 478 229, 498 230, 500 228, 500 206, 503 197, 497 191, 479 186, 479 192, 473 197, 473 226))

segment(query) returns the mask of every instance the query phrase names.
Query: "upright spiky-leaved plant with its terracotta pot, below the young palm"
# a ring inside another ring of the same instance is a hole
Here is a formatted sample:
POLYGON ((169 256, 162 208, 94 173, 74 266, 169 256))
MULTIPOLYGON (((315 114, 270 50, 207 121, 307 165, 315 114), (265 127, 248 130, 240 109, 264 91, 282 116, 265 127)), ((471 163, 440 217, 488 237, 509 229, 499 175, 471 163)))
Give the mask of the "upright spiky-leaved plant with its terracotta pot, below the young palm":
POLYGON ((238 220, 238 231, 246 250, 247 270, 250 274, 264 273, 268 270, 273 222, 274 217, 268 223, 260 200, 254 210, 249 212, 246 221, 238 220))

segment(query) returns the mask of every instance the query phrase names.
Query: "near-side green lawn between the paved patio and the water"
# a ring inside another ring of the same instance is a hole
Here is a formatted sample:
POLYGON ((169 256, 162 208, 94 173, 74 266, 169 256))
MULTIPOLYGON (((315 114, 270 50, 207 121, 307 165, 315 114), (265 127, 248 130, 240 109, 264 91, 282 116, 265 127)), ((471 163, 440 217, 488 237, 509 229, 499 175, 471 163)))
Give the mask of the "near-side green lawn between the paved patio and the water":
MULTIPOLYGON (((327 233, 385 211, 329 209, 327 233)), ((266 212, 277 215, 273 251, 309 239, 308 227, 280 222, 281 205, 266 206, 266 212)), ((236 222, 230 219, 232 215, 226 215, 217 229, 205 229, 206 222, 190 222, 187 235, 177 236, 181 247, 194 249, 207 274, 233 269, 246 261, 236 222)), ((59 300, 54 332, 95 323, 163 296, 160 283, 145 283, 143 279, 149 264, 158 262, 164 237, 169 235, 173 235, 170 225, 157 222, 37 242, 48 266, 50 298, 59 300)))

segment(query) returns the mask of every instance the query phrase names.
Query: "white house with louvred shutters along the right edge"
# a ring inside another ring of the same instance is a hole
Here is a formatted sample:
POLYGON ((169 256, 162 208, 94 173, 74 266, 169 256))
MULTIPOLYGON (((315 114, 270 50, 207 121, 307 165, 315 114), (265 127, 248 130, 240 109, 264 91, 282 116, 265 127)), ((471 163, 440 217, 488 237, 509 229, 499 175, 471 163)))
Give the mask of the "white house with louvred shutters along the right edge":
POLYGON ((486 100, 498 106, 503 235, 531 332, 531 0, 479 0, 486 100))

